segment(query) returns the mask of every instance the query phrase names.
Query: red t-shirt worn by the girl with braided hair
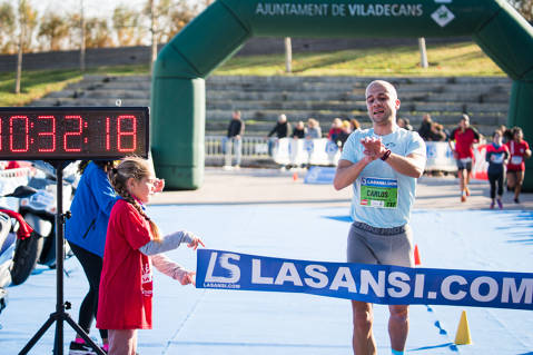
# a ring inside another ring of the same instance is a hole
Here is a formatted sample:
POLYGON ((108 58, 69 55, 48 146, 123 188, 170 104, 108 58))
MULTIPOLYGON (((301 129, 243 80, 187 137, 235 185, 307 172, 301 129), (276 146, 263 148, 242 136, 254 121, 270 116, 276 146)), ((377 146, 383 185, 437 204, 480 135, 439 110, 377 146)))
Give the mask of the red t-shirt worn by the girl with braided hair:
POLYGON ((119 199, 109 218, 98 299, 100 329, 151 329, 152 273, 139 248, 151 240, 150 224, 119 199))

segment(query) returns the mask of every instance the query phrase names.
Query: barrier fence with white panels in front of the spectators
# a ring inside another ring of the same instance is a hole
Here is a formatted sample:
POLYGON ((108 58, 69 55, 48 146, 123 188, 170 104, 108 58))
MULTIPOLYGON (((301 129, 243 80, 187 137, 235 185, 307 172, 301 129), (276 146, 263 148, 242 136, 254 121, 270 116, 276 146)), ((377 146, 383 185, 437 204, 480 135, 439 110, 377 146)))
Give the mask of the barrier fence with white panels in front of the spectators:
MULTIPOLYGON (((231 151, 231 141, 225 136, 206 136, 206 157, 224 161, 226 152, 231 151)), ((486 180, 487 162, 486 145, 477 145, 474 149, 473 177, 486 180)), ((426 171, 455 172, 457 166, 450 146, 445 141, 426 141, 426 171)), ((326 138, 293 139, 243 137, 241 157, 244 159, 272 159, 279 165, 319 165, 336 166, 340 158, 339 148, 326 138)), ((227 159, 227 157, 226 157, 227 159)))

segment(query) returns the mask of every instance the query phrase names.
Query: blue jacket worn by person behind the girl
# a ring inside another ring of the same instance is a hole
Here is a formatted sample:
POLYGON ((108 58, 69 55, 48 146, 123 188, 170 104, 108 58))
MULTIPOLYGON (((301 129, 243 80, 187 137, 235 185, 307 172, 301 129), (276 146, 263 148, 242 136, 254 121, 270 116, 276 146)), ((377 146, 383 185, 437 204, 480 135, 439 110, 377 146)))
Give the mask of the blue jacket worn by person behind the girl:
POLYGON ((106 172, 92 161, 89 162, 70 206, 72 217, 67 219, 65 238, 103 257, 109 215, 119 198, 106 172))

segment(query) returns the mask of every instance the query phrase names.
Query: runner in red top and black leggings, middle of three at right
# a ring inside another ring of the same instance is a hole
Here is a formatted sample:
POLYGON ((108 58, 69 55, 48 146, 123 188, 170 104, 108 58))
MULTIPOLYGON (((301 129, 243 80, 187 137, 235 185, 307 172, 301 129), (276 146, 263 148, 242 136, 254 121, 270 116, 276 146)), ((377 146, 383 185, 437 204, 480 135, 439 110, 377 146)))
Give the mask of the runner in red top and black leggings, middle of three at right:
POLYGON ((486 175, 488 176, 488 183, 491 184, 491 209, 497 201, 497 207, 503 208, 502 195, 503 195, 503 171, 504 164, 509 159, 507 147, 502 141, 503 132, 500 129, 494 131, 492 138, 492 145, 486 146, 485 159, 488 162, 488 169, 486 175), (497 199, 496 199, 496 185, 497 185, 497 199))

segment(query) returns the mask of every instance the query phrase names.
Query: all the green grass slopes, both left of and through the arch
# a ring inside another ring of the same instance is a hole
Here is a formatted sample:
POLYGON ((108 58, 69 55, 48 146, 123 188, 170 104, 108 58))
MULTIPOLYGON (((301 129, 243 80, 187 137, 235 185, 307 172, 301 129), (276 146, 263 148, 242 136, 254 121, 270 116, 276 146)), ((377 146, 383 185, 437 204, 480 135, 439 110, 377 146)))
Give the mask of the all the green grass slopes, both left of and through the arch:
MULTIPOLYGON (((505 76, 473 42, 428 46, 430 68, 420 67, 417 46, 294 53, 289 76, 505 76)), ((102 67, 88 75, 148 75, 148 66, 102 67)), ((215 70, 219 76, 286 76, 284 55, 234 57, 215 70)), ((0 73, 0 106, 23 106, 48 92, 81 80, 79 70, 26 70, 21 93, 14 95, 14 73, 0 73)))

